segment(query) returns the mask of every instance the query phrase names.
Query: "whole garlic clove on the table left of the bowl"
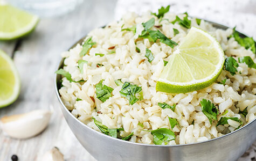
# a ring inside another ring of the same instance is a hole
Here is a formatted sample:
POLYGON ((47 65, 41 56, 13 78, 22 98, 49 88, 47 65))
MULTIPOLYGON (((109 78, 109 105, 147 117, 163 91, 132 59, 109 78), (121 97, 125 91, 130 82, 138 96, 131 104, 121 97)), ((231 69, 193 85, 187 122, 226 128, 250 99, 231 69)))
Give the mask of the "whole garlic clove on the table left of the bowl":
POLYGON ((43 131, 51 118, 51 111, 37 109, 24 114, 4 116, 0 123, 3 131, 13 138, 29 138, 43 131))

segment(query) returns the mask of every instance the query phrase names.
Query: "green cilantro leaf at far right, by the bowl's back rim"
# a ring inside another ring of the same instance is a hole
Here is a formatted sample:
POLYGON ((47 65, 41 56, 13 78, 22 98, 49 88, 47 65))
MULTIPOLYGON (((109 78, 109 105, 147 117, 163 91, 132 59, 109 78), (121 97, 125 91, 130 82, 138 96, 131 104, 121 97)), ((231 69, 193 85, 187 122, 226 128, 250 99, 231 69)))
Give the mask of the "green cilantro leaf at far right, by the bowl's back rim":
POLYGON ((251 49, 254 54, 256 54, 255 41, 253 38, 241 38, 239 33, 236 31, 236 27, 233 28, 233 34, 231 35, 241 46, 246 49, 251 49))

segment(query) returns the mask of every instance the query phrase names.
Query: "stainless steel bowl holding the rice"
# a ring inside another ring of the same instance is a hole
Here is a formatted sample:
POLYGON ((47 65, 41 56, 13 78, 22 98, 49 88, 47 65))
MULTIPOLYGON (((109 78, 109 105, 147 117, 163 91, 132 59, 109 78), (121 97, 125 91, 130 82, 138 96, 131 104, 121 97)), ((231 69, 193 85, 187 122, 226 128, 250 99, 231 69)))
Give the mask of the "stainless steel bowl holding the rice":
MULTIPOLYGON (((217 28, 227 26, 209 21, 217 28)), ((240 33, 242 36, 244 34, 240 33)), ((81 43, 84 38, 77 43, 81 43)), ((75 45, 77 45, 75 43, 75 45)), ((75 46, 74 45, 74 46, 75 46)), ((74 47, 72 46, 72 47, 74 47)), ((71 48, 72 48, 71 47, 71 48)), ((63 67, 61 60, 59 68, 63 67)), ((58 68, 58 69, 59 69, 58 68)), ((84 148, 97 160, 237 160, 256 140, 256 119, 244 127, 222 137, 209 141, 183 145, 148 145, 132 143, 102 134, 75 118, 60 99, 58 82, 55 76, 55 89, 64 117, 84 148)))

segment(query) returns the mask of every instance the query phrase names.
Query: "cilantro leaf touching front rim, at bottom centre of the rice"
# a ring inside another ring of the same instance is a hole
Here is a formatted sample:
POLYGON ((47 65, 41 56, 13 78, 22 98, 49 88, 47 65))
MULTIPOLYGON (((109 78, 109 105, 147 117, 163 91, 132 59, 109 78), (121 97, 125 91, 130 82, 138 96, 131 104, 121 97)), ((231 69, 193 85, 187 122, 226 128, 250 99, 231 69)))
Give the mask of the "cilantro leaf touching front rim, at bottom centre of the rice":
POLYGON ((174 132, 167 128, 152 130, 151 134, 153 135, 153 142, 156 145, 161 145, 163 142, 175 140, 176 137, 174 132))

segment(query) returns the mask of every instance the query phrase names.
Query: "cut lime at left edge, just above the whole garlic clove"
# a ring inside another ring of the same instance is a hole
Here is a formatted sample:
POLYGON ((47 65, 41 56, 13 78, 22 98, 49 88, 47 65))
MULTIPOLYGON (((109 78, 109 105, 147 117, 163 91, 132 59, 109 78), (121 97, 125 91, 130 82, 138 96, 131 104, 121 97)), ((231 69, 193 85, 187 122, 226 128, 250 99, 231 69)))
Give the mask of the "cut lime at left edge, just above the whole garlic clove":
POLYGON ((0 50, 0 107, 12 104, 19 96, 20 79, 11 58, 0 50))

